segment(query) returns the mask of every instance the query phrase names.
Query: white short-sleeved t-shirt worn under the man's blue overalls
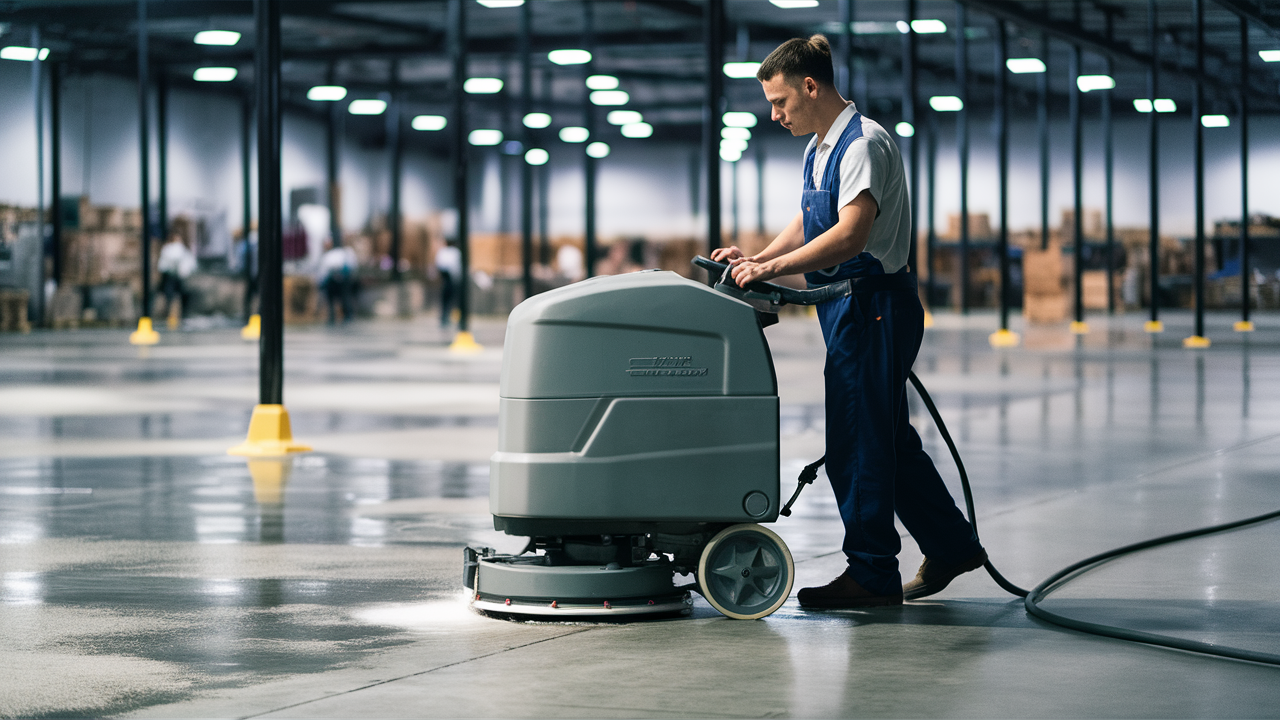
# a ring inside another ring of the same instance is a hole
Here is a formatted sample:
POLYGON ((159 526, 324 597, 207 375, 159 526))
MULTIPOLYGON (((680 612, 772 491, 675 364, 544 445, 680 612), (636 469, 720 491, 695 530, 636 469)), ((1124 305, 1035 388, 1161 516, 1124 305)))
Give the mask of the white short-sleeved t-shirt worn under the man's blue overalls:
MULTIPOLYGON (((831 151, 854 118, 856 109, 850 102, 831 123, 822 140, 817 135, 805 147, 809 151, 818 147, 813 159, 813 184, 822 188, 822 173, 827 168, 831 151)), ((867 240, 867 252, 881 261, 884 273, 893 274, 906 265, 911 250, 911 199, 906 187, 906 173, 902 169, 902 155, 897 142, 890 137, 876 120, 861 115, 863 136, 849 143, 840 163, 840 196, 836 210, 854 201, 858 195, 869 190, 879 209, 872 223, 870 237, 867 240)))

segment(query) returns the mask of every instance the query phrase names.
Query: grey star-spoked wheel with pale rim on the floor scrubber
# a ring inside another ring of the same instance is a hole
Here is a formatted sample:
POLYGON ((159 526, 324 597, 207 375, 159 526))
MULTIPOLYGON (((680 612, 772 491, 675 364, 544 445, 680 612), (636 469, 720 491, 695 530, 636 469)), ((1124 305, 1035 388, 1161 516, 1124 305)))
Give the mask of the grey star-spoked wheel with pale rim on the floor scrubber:
POLYGON ((754 523, 717 533, 698 562, 703 597, 735 620, 756 620, 782 607, 794 580, 795 562, 787 544, 754 523))

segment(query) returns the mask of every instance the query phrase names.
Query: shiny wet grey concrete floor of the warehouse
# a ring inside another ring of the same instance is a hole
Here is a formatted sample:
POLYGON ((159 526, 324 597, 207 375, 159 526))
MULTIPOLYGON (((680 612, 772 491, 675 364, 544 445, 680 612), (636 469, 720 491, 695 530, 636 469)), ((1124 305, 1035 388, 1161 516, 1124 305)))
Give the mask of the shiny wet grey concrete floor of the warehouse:
MULTIPOLYGON (((1203 351, 1180 347, 1189 316, 1156 338, 1142 320, 1004 351, 992 315, 925 336, 916 372, 1015 583, 1280 507, 1280 318, 1203 351)), ((762 621, 701 598, 691 619, 630 624, 474 615, 460 548, 524 544, 486 512, 503 327, 476 324, 477 356, 426 319, 291 328, 285 404, 316 452, 284 483, 224 454, 257 388, 234 331, 147 351, 124 332, 0 338, 0 716, 1280 716, 1277 667, 1046 625, 978 574, 904 607, 791 600, 762 621)), ((804 316, 768 336, 790 492, 822 455, 822 341, 804 316)), ((840 573, 824 482, 773 528, 796 588, 840 573)), ((1277 544, 1274 523, 1149 551, 1046 607, 1276 653, 1277 544)))

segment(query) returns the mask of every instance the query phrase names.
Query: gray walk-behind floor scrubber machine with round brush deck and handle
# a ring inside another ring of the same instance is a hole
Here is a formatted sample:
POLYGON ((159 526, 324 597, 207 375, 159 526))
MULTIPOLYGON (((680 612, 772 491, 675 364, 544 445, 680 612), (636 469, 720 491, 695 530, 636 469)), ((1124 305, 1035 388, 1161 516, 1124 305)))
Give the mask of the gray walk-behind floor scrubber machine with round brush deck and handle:
POLYGON ((466 548, 474 609, 503 616, 685 614, 690 589, 736 619, 791 593, 780 514, 778 387, 764 328, 847 288, 714 290, 671 272, 599 277, 507 323, 494 528, 520 555, 466 548), (677 585, 676 575, 696 583, 677 585))

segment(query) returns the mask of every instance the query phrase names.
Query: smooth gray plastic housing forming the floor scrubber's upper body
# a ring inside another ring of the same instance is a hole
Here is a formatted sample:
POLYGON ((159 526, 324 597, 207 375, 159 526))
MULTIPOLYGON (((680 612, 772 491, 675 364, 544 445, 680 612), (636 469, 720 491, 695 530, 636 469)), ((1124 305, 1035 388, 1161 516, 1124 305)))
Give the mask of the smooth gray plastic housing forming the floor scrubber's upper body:
POLYGON ((499 393, 495 518, 777 519, 777 382, 745 302, 657 270, 538 295, 507 322, 499 393))

